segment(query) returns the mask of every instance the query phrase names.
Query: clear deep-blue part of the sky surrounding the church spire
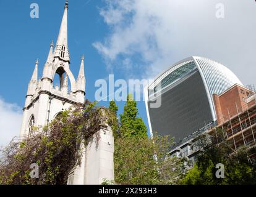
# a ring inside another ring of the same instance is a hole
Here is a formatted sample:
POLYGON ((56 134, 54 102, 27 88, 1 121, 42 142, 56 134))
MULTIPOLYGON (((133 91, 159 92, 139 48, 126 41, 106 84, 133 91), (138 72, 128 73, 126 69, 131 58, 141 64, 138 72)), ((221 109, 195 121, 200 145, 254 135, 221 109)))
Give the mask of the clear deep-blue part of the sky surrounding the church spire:
MULTIPOLYGON (((64 2, 64 0, 0 0, 0 22, 2 26, 0 31, 2 69, 0 98, 5 102, 3 104, 5 110, 19 112, 23 107, 27 85, 32 76, 36 58, 39 58, 40 61, 38 76, 41 76, 49 52, 49 44, 52 40, 56 42, 59 33, 64 2), (33 2, 39 5, 39 18, 30 18, 30 4, 33 2)), ((80 57, 84 54, 87 79, 86 97, 91 101, 95 99, 96 87, 94 83, 97 79, 105 79, 108 74, 115 74, 117 79, 126 79, 125 73, 108 70, 104 58, 93 47, 93 43, 103 39, 109 31, 108 25, 99 14, 100 7, 103 6, 104 1, 95 0, 70 1, 69 6, 70 70, 76 78, 80 67, 80 57)), ((122 112, 124 102, 117 104, 120 112, 122 112)), ((107 106, 108 102, 101 102, 100 105, 107 106)), ((144 105, 143 102, 138 103, 140 115, 147 124, 144 105)), ((16 117, 16 121, 19 118, 20 116, 16 117)), ((10 124, 12 124, 11 120, 10 124)), ((18 126, 14 129, 18 129, 18 126)), ((6 137, 2 132, 4 131, 1 129, 1 137, 6 137)), ((19 131, 12 132, 19 134, 19 131)), ((9 135, 8 140, 10 140, 9 135)))

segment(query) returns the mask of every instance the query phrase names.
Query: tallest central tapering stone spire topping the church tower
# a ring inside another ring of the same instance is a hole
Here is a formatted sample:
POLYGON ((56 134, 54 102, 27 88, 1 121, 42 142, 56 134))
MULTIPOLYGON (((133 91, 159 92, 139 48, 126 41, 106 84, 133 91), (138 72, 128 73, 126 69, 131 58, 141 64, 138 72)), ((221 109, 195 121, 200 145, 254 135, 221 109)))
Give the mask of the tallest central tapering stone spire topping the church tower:
POLYGON ((67 10, 69 9, 69 1, 65 3, 64 14, 62 17, 61 28, 56 42, 54 57, 59 57, 64 61, 69 61, 69 49, 67 47, 67 10))

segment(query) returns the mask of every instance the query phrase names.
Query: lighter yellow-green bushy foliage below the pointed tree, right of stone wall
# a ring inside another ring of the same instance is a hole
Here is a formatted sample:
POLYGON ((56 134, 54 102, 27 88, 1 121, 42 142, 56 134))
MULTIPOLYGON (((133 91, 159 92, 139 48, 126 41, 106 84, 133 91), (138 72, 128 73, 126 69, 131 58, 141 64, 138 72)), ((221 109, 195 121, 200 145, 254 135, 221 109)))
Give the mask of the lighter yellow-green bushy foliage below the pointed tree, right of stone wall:
POLYGON ((176 184, 186 171, 184 159, 166 158, 173 139, 129 136, 116 139, 115 182, 121 184, 176 184))

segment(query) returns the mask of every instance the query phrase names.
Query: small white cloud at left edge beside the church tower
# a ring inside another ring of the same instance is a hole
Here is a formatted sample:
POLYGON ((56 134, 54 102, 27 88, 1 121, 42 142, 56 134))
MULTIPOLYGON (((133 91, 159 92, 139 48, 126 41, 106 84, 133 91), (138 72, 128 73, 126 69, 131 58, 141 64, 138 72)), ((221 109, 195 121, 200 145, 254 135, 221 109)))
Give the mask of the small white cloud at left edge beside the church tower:
POLYGON ((21 108, 0 98, 0 149, 19 136, 21 124, 21 108))

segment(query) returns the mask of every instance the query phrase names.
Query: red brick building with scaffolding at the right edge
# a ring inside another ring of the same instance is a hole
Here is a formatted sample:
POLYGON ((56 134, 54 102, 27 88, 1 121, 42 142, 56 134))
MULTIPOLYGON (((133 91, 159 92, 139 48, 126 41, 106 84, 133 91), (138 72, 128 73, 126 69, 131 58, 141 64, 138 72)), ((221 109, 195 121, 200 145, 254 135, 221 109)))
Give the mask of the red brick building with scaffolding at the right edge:
MULTIPOLYGON (((256 147, 256 94, 238 84, 223 92, 213 95, 218 126, 209 134, 216 135, 216 130, 223 131, 224 138, 232 142, 234 151, 239 148, 256 147)), ((256 153, 249 156, 254 162, 256 153)))

